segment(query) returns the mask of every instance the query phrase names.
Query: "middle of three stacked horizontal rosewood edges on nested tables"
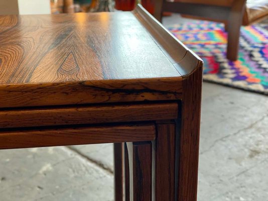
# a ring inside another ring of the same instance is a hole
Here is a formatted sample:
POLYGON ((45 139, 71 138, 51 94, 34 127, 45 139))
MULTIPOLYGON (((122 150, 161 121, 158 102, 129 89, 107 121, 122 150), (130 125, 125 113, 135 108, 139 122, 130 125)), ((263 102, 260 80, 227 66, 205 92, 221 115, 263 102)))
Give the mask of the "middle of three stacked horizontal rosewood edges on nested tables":
POLYGON ((177 119, 177 103, 0 110, 0 128, 177 119))

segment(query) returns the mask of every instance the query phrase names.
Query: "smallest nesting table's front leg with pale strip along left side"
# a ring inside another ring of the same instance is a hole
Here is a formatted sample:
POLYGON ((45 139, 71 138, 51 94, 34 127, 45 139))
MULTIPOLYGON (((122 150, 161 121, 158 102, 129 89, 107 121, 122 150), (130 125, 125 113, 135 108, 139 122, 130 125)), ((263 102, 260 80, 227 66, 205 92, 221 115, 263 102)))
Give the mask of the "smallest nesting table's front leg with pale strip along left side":
POLYGON ((127 143, 131 201, 152 200, 152 143, 127 143))

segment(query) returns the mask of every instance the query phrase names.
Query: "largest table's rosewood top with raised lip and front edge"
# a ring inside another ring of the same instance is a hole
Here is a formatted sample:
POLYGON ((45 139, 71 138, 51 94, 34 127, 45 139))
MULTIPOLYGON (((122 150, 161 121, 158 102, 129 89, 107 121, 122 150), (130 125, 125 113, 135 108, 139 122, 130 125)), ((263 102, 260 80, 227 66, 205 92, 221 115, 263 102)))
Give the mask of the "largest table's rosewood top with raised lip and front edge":
POLYGON ((140 6, 0 16, 2 108, 177 99, 199 63, 140 6))

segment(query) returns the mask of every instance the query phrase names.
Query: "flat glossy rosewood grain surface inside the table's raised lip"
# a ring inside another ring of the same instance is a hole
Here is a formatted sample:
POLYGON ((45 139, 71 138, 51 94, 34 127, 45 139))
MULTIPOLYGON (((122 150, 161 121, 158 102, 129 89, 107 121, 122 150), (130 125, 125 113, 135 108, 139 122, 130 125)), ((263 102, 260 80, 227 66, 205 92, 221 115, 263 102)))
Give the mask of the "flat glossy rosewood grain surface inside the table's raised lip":
POLYGON ((0 34, 0 84, 179 76, 130 12, 4 16, 0 34))

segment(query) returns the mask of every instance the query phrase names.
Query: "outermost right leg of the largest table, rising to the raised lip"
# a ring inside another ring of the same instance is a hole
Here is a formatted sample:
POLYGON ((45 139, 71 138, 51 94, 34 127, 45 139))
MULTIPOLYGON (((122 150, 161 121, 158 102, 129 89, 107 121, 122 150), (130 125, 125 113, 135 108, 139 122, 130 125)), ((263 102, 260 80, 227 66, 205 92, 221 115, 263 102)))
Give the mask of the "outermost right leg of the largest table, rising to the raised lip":
MULTIPOLYGON (((229 25, 228 25, 229 26, 229 25)), ((202 64, 183 81, 177 142, 177 194, 175 200, 196 201, 198 182, 199 133, 201 117, 202 64)))

